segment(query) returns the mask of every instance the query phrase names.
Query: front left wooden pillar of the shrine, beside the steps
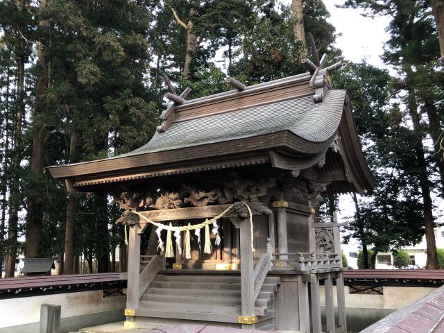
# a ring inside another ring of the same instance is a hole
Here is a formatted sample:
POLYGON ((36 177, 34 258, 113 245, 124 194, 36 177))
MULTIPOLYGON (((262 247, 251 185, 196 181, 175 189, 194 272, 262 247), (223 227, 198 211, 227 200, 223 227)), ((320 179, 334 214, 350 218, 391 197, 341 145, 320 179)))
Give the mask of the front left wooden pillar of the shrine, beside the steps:
POLYGON ((130 226, 128 237, 128 282, 126 287, 126 321, 134 322, 134 311, 139 307, 140 235, 137 225, 130 226))

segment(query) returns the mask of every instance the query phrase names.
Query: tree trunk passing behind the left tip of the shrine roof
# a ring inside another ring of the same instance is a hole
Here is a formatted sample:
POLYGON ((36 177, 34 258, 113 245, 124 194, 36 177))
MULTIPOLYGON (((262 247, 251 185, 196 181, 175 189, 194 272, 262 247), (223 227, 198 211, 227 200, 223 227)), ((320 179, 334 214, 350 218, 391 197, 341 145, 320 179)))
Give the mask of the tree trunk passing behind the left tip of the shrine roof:
MULTIPOLYGON (((71 133, 69 140, 69 156, 71 162, 75 160, 76 144, 78 142, 78 134, 71 133)), ((65 223, 65 265, 63 266, 63 274, 73 273, 74 264, 74 216, 76 214, 76 196, 71 182, 67 180, 67 219, 65 223)))

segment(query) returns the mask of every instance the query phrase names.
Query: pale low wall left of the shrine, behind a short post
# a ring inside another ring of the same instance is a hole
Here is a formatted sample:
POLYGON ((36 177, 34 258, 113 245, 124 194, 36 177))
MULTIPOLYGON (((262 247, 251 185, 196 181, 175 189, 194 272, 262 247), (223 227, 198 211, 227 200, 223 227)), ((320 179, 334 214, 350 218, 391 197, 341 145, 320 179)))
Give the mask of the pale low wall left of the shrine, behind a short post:
POLYGON ((0 333, 39 332, 40 306, 61 305, 60 333, 123 321, 126 296, 108 296, 103 291, 58 293, 48 296, 0 300, 0 333))

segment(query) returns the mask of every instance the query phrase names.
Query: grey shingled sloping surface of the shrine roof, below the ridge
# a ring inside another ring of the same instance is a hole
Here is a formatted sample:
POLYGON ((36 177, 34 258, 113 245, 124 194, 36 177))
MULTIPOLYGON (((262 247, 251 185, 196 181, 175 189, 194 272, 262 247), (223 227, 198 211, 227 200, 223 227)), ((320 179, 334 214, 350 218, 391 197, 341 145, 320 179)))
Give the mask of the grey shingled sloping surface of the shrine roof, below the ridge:
POLYGON ((339 126, 345 94, 345 90, 330 90, 323 103, 314 103, 309 95, 178 121, 167 131, 156 132, 144 146, 122 156, 226 142, 283 130, 308 142, 325 142, 339 126))

